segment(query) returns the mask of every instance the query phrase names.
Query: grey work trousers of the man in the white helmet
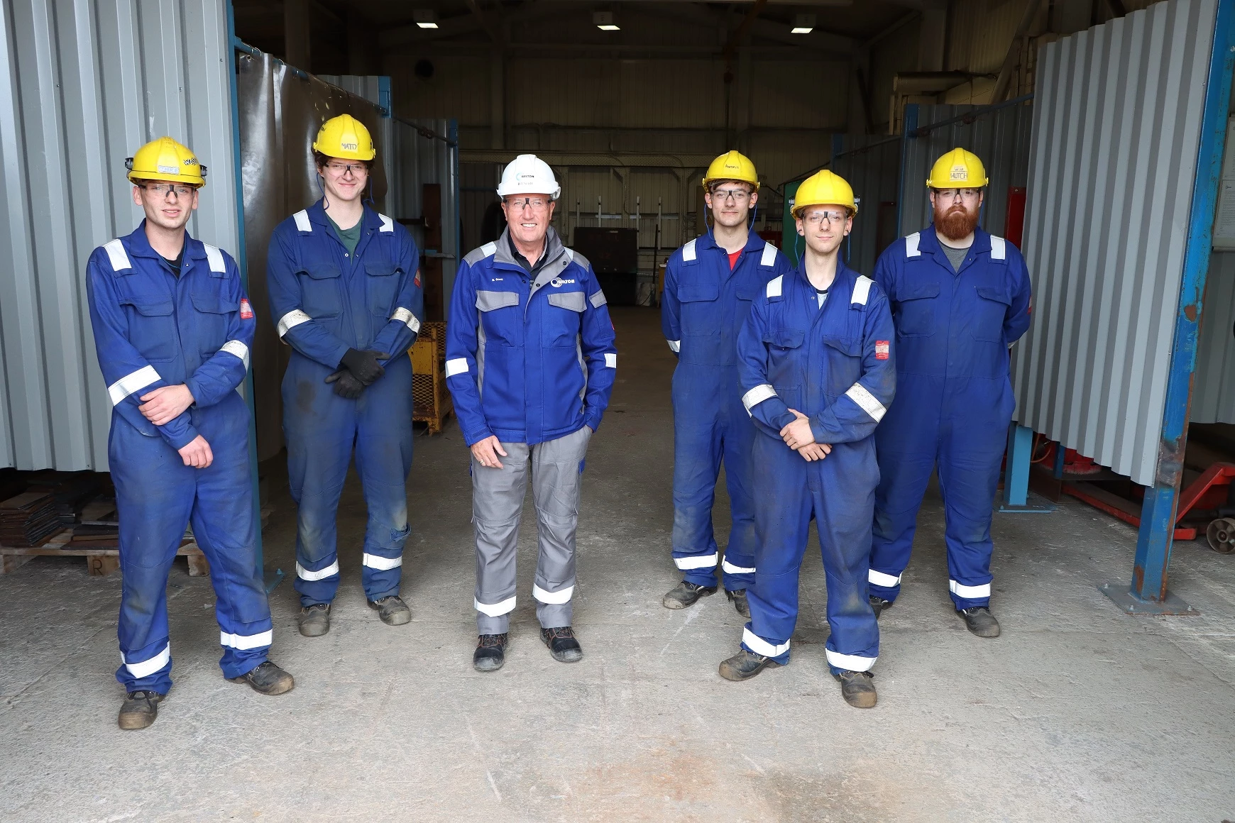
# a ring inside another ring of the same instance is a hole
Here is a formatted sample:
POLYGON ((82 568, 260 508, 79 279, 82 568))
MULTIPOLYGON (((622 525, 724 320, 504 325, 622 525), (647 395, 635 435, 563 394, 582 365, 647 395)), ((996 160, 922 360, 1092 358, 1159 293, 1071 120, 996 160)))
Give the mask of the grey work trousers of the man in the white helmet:
POLYGON ((500 469, 472 458, 472 524, 475 528, 475 623, 479 634, 505 634, 515 608, 515 547, 527 492, 540 537, 536 563, 536 618, 543 628, 571 624, 574 593, 574 531, 579 523, 579 484, 592 429, 584 426, 556 440, 505 443, 500 469))

